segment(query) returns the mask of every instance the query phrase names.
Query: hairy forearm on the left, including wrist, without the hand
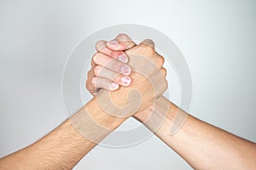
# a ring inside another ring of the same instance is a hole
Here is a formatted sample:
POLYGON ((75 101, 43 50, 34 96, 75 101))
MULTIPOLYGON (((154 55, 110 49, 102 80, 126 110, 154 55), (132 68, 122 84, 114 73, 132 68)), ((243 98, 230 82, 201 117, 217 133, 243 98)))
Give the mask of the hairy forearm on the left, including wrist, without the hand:
MULTIPOLYGON (((72 169, 83 156, 96 146, 95 141, 90 140, 90 136, 86 139, 80 133, 95 129, 79 129, 78 131, 77 126, 73 124, 77 117, 86 117, 84 115, 88 114, 86 112, 88 109, 92 111, 90 117, 102 127, 108 128, 109 133, 123 122, 123 120, 108 116, 101 111, 96 100, 92 99, 73 117, 56 127, 44 138, 0 159, 0 169, 72 169)), ((91 120, 81 121, 89 122, 91 120)), ((97 139, 104 139, 108 135, 108 133, 96 131, 93 133, 97 135, 97 139)))

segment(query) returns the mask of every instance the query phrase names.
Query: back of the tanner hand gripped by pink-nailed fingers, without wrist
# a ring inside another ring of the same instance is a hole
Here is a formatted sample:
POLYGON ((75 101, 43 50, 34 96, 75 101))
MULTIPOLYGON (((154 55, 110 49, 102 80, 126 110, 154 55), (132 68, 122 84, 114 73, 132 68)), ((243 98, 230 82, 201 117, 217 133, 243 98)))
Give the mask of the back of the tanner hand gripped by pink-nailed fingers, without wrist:
MULTIPOLYGON (((146 45, 143 45, 146 46, 146 45)), ((136 47, 137 48, 137 47, 136 47)), ((151 47, 143 47, 147 53, 131 53, 131 86, 111 92, 102 89, 97 95, 98 105, 108 115, 127 118, 154 105, 155 99, 166 91, 166 71, 158 54, 151 47)), ((108 64, 107 64, 108 65, 108 64)))

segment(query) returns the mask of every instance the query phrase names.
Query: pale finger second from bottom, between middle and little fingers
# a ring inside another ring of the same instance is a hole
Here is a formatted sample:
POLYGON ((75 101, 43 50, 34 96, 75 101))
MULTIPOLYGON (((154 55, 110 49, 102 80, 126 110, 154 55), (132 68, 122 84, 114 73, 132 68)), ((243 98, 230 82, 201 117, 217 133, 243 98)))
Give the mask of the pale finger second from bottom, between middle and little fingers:
POLYGON ((131 77, 124 76, 118 72, 110 71, 101 65, 97 65, 94 69, 95 77, 106 78, 111 82, 117 82, 121 86, 129 86, 131 84, 131 77))

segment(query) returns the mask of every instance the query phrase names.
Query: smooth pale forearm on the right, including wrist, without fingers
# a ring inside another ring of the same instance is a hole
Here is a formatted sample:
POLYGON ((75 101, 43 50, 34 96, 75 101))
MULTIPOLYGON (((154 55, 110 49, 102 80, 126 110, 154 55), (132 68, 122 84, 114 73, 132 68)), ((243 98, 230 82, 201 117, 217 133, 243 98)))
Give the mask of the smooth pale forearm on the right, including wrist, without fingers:
MULTIPOLYGON (((165 116, 161 111, 155 113, 157 114, 155 117, 159 117, 158 120, 162 119, 160 116, 165 116)), ((148 112, 148 116, 149 114, 148 112)), ((171 127, 177 114, 186 113, 169 102, 166 120, 155 134, 192 167, 195 169, 256 169, 255 144, 189 115, 183 125, 180 123, 182 127, 177 133, 172 134, 171 127)), ((155 122, 147 122, 145 115, 147 114, 144 113, 144 116, 138 116, 137 119, 145 122, 149 129, 154 129, 155 122)))

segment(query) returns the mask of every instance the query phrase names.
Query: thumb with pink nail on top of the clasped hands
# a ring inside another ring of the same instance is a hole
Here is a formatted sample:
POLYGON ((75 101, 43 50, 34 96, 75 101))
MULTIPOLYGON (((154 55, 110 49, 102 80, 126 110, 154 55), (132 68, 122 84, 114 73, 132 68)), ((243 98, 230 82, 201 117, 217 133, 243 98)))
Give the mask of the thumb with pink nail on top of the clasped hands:
POLYGON ((125 51, 127 49, 133 48, 136 43, 131 40, 131 37, 126 34, 119 34, 112 41, 107 42, 107 47, 113 50, 125 51))

